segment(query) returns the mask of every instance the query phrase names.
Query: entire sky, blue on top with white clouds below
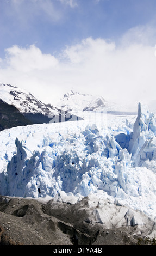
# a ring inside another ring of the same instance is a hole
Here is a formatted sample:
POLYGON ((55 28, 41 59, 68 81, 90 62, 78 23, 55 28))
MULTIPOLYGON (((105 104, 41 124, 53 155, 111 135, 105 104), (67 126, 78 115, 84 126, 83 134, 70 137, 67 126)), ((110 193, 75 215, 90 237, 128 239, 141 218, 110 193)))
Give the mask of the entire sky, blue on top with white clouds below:
POLYGON ((0 82, 55 105, 68 90, 156 99, 155 0, 0 0, 0 82))

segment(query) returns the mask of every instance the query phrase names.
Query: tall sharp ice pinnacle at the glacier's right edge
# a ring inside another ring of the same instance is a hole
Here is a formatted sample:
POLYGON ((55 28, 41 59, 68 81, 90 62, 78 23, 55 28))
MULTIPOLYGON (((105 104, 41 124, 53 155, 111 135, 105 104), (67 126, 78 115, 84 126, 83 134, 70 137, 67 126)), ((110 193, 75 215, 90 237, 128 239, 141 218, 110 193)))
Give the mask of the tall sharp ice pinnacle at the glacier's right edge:
POLYGON ((147 106, 138 104, 138 117, 134 123, 128 151, 132 153, 135 166, 142 166, 148 160, 155 160, 156 118, 147 106))

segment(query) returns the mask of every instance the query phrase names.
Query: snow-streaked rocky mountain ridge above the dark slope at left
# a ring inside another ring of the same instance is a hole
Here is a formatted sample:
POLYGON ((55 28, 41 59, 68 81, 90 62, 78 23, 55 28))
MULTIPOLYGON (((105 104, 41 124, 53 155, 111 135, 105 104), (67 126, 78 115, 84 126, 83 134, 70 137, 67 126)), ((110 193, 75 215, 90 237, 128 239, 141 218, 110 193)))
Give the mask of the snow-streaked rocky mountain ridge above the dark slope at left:
POLYGON ((15 106, 32 124, 69 120, 73 117, 51 104, 42 103, 27 90, 0 83, 0 99, 15 106))

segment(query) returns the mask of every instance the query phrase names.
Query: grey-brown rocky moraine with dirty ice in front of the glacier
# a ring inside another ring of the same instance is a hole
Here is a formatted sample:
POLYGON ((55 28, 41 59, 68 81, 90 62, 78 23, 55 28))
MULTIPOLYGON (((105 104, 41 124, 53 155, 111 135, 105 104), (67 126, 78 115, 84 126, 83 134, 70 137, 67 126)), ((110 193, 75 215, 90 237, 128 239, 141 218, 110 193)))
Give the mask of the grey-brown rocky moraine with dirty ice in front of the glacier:
POLYGON ((137 245, 154 227, 142 212, 106 199, 0 196, 0 245, 137 245))

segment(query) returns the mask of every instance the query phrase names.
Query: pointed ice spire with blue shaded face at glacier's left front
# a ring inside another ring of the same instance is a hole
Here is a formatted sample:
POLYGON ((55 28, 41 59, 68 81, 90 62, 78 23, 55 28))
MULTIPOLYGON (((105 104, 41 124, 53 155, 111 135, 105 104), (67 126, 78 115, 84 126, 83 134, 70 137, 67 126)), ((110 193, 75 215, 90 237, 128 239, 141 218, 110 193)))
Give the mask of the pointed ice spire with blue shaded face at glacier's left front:
MULTIPOLYGON (((32 186, 32 192, 27 189, 28 182, 32 179, 34 173, 34 157, 22 142, 16 138, 16 154, 13 155, 7 164, 7 175, 1 173, 1 193, 4 195, 26 197, 36 196, 35 189, 32 186)), ((39 155, 39 153, 38 153, 39 155)))

